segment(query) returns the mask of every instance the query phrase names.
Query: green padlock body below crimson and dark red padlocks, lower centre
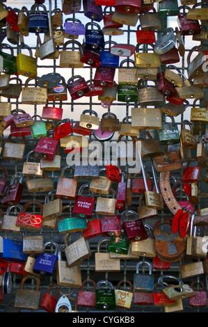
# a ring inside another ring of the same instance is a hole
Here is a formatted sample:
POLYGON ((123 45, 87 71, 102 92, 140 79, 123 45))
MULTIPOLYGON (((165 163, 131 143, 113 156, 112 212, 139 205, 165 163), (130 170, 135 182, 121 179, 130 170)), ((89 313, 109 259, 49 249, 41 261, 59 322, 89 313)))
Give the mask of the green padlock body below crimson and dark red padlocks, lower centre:
POLYGON ((119 237, 111 237, 108 251, 127 255, 129 251, 129 240, 126 232, 122 232, 119 237))

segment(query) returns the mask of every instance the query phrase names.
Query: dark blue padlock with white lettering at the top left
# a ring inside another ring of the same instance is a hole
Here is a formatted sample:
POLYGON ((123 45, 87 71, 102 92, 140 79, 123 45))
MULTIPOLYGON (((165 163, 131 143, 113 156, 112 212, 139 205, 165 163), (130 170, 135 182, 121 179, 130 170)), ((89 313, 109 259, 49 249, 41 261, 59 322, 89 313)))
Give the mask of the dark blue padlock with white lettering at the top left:
POLYGON ((49 17, 44 5, 35 3, 31 6, 28 30, 29 33, 47 33, 49 31, 49 17), (39 10, 39 7, 42 7, 43 10, 39 10))

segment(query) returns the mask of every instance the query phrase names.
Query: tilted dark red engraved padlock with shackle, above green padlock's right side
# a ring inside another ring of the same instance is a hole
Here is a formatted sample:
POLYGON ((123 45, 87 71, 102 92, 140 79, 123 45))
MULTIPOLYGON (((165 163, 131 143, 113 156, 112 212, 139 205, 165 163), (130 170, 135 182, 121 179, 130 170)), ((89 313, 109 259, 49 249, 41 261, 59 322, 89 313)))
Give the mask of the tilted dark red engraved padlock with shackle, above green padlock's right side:
MULTIPOLYGON (((138 219, 138 215, 136 212, 134 212, 134 210, 128 210, 127 212, 128 216, 129 214, 133 214, 133 216, 136 218, 135 220, 131 221, 123 221, 123 227, 125 228, 129 242, 142 241, 143 239, 147 239, 148 234, 145 230, 143 221, 138 219)), ((122 218, 125 214, 126 212, 122 212, 122 218)))

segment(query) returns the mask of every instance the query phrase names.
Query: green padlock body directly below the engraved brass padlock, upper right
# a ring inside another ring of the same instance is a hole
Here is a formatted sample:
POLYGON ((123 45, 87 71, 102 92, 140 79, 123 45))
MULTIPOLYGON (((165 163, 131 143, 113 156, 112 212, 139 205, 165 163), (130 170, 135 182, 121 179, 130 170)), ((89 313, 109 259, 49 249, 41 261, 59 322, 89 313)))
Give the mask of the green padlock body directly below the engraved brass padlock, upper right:
POLYGON ((137 102, 138 100, 138 87, 133 84, 120 84, 118 83, 118 101, 121 102, 137 102))

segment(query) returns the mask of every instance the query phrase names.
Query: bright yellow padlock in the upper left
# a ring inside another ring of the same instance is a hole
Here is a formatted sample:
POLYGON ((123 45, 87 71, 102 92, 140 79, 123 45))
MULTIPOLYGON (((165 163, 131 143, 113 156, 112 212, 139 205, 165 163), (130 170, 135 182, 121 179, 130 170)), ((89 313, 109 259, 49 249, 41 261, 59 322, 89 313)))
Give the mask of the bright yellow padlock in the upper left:
POLYGON ((31 49, 24 44, 17 47, 17 74, 30 78, 37 76, 36 58, 33 58, 31 49), (29 56, 22 54, 24 48, 29 51, 29 56))

